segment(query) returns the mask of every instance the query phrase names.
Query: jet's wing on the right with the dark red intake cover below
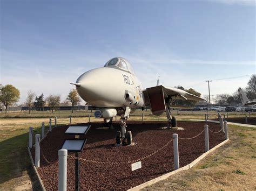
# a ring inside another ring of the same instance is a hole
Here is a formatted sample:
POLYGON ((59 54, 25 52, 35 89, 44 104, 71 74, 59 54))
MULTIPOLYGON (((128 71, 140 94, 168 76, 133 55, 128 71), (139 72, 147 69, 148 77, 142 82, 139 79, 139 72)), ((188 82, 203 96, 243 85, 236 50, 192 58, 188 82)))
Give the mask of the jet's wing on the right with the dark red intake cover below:
POLYGON ((155 86, 143 90, 145 104, 150 105, 154 115, 160 115, 166 109, 165 98, 172 100, 205 101, 203 98, 187 93, 178 88, 155 86))

